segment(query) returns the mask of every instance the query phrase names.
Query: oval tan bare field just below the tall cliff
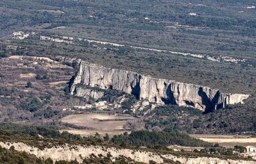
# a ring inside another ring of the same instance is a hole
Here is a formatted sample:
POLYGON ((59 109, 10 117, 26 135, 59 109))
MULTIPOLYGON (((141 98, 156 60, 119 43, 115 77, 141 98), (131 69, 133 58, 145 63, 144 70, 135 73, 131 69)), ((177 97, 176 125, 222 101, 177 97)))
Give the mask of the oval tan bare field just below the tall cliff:
POLYGON ((73 125, 90 127, 101 131, 120 131, 124 130, 123 126, 129 120, 134 120, 131 116, 114 116, 105 114, 80 114, 68 115, 61 119, 62 122, 73 125))

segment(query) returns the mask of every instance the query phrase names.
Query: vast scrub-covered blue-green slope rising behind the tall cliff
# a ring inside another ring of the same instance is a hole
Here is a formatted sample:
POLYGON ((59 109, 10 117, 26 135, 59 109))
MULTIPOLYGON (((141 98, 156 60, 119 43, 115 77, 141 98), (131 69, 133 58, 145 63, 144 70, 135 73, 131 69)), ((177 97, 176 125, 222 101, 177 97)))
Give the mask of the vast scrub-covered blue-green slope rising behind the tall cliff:
POLYGON ((65 0, 17 1, 13 5, 5 0, 1 6, 1 22, 8 22, 1 26, 3 38, 12 38, 12 32, 28 31, 50 38, 65 36, 67 41, 74 37, 173 52, 95 42, 68 45, 67 41, 39 41, 36 36, 8 42, 23 45, 34 54, 79 57, 107 67, 229 92, 252 94, 255 90, 255 9, 248 8, 255 6, 254 1, 65 0))

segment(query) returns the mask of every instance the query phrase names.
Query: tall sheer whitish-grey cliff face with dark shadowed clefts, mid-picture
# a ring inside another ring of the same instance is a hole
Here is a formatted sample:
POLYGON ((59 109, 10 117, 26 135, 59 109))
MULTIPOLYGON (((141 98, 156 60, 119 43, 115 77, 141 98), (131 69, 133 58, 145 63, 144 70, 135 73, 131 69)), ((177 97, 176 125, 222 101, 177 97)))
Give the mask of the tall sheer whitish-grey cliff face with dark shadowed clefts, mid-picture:
POLYGON ((135 95, 139 100, 158 104, 195 107, 203 111, 223 108, 225 105, 242 103, 249 95, 222 93, 209 87, 152 78, 121 69, 105 68, 81 61, 80 69, 71 86, 71 95, 77 85, 100 87, 135 95))

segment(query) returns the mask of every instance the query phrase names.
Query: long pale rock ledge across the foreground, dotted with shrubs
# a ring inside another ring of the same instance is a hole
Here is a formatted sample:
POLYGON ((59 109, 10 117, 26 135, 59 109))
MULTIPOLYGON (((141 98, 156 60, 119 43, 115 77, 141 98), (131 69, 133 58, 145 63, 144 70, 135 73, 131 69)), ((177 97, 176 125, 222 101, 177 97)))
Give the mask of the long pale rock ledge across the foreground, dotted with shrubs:
POLYGON ((10 148, 11 146, 14 147, 17 151, 24 151, 27 153, 31 153, 37 157, 41 158, 52 158, 53 161, 60 161, 60 160, 77 160, 78 162, 82 163, 84 158, 90 158, 91 154, 95 156, 102 155, 104 157, 110 153, 111 160, 115 161, 115 158, 124 156, 127 158, 131 158, 136 162, 145 162, 149 163, 149 161, 155 161, 156 163, 165 163, 164 159, 169 159, 172 161, 179 161, 180 163, 184 164, 191 164, 191 163, 200 163, 200 164, 255 164, 255 161, 244 161, 244 160, 221 160, 219 158, 210 158, 210 157, 181 157, 181 156, 174 156, 170 153, 156 153, 156 152, 149 152, 145 150, 131 150, 127 148, 115 148, 115 147, 104 147, 104 146, 78 146, 78 145, 63 145, 58 147, 52 148, 45 148, 44 150, 40 150, 37 147, 26 145, 22 142, 18 143, 9 143, 9 142, 0 142, 0 146, 4 148, 10 148))

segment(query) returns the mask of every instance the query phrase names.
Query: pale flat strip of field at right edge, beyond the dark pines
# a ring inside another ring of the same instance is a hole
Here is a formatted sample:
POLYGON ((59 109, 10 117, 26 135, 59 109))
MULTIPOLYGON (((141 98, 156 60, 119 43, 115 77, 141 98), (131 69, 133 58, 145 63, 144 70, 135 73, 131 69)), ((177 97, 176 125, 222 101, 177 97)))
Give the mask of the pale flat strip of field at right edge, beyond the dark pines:
POLYGON ((220 146, 234 147, 241 146, 256 146, 256 138, 241 135, 190 135, 191 137, 199 138, 200 140, 219 143, 220 146))

